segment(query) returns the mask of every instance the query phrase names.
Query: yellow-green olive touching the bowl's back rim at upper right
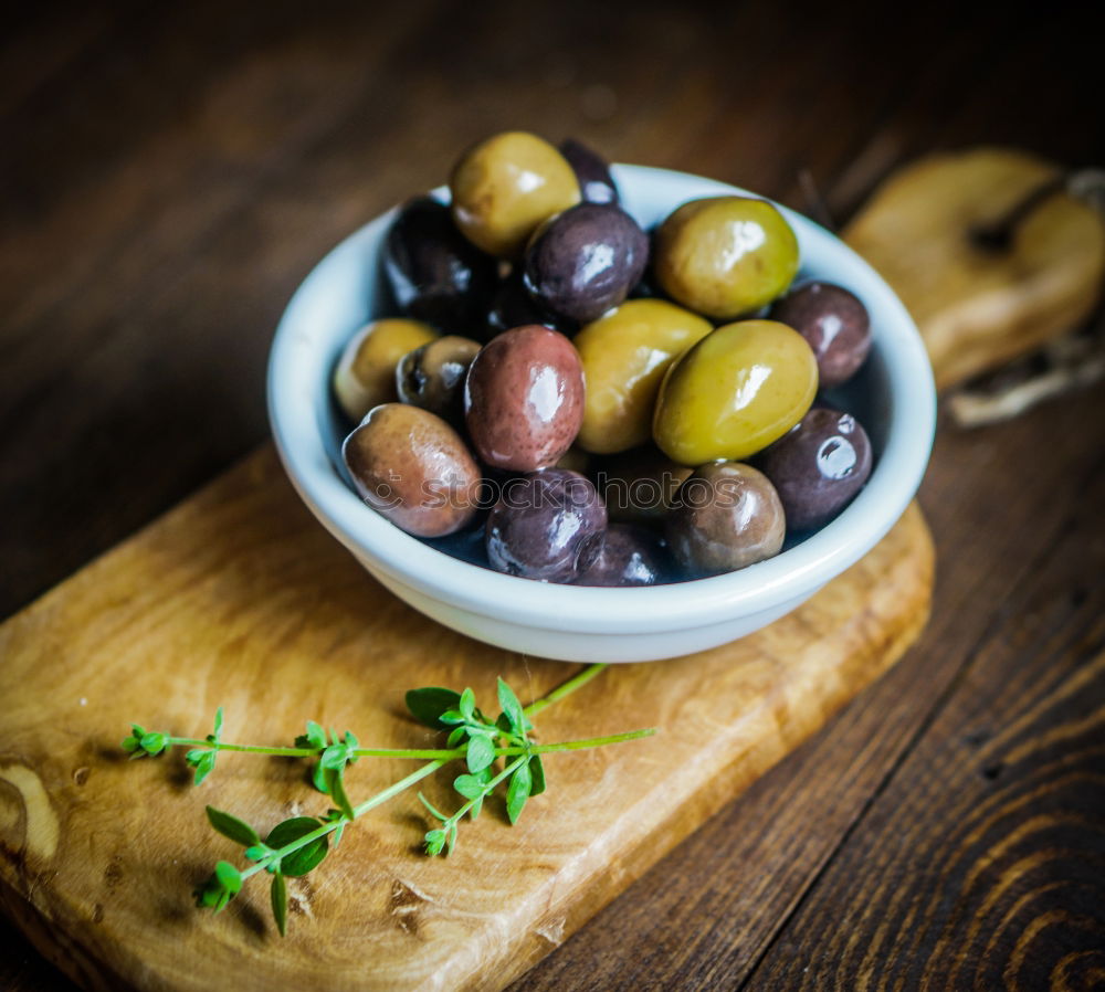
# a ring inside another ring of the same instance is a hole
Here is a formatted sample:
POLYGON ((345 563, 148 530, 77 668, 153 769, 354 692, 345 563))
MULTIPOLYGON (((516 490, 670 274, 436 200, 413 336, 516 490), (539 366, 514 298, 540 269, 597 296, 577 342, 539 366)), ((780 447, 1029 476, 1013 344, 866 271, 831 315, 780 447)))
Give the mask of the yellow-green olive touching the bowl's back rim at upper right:
POLYGON ((653 266, 674 300, 727 320, 759 309, 790 285, 798 239, 766 200, 692 200, 661 224, 653 266))

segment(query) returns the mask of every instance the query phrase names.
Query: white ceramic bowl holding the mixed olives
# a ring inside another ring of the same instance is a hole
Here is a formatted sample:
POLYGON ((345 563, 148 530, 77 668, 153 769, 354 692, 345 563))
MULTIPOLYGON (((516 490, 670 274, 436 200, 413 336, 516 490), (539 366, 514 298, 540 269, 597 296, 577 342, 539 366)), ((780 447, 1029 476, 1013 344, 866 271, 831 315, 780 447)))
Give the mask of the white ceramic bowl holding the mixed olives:
MULTIPOLYGON (((622 205, 651 228, 686 200, 739 193, 663 169, 615 166, 622 205)), ((444 199, 445 191, 438 193, 444 199)), ((891 529, 920 484, 935 428, 936 394, 913 320, 850 247, 781 208, 798 235, 799 278, 846 286, 866 305, 874 335, 841 401, 866 426, 871 479, 835 520, 768 561, 711 579, 635 589, 554 585, 454 559, 393 527, 344 477, 343 425, 330 373, 349 336, 378 313, 379 251, 389 212, 346 239, 293 296, 269 365, 269 416, 303 500, 361 564, 427 616, 513 651, 576 662, 642 662, 724 644, 790 612, 857 561, 891 529)))

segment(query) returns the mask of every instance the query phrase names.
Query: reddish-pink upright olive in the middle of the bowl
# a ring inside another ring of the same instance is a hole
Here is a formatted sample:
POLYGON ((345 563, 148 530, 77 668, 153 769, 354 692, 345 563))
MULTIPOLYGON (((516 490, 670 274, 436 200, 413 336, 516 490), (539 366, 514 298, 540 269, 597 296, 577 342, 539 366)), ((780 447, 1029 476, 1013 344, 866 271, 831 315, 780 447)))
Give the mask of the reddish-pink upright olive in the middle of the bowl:
POLYGON ((583 370, 571 341, 536 324, 493 338, 469 367, 464 418, 485 464, 514 472, 556 464, 583 419, 583 370))

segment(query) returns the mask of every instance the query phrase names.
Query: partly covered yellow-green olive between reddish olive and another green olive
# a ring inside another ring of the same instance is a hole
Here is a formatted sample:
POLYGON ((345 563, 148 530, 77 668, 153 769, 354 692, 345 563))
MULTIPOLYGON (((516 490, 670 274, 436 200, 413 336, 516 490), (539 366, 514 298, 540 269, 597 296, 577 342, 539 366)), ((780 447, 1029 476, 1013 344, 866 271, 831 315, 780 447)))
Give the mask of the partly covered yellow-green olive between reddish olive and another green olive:
POLYGON ((604 454, 648 441, 664 372, 711 330, 663 299, 630 299, 588 324, 575 338, 587 382, 580 446, 604 454))

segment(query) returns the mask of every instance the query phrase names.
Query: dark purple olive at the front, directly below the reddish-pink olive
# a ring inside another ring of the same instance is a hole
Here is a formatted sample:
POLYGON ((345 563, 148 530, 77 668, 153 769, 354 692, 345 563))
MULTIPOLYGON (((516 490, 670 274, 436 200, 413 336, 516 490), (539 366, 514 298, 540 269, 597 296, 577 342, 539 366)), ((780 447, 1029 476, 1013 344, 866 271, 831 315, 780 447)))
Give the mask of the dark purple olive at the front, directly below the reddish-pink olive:
POLYGON ((606 508, 586 475, 533 472, 503 487, 487 518, 487 560, 512 576, 571 582, 581 552, 606 526, 606 508))

